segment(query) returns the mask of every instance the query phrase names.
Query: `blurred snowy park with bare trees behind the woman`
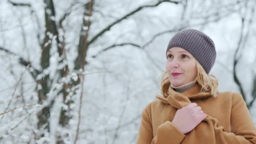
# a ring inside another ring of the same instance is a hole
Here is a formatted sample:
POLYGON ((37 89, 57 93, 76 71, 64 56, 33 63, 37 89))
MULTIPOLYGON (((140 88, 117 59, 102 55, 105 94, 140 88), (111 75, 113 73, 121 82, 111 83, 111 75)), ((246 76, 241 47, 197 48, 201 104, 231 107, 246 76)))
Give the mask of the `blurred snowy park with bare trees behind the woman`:
MULTIPOLYGON (((209 35, 256 124, 255 0, 0 0, 0 143, 134 144, 165 50, 209 35)), ((213 107, 214 109, 214 107, 213 107)))

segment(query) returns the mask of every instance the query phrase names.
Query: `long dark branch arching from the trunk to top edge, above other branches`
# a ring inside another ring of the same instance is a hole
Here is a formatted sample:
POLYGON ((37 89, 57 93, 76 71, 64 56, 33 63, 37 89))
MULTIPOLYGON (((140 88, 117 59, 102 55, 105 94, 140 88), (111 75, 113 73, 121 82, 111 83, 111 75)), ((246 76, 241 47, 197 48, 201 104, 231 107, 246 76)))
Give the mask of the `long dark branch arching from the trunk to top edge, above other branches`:
POLYGON ((110 30, 111 27, 113 27, 115 24, 119 23, 120 21, 127 19, 129 16, 141 11, 143 8, 149 8, 149 7, 156 7, 158 5, 160 5, 163 2, 169 2, 169 3, 175 3, 175 4, 179 4, 178 1, 172 1, 172 0, 159 0, 158 3, 154 4, 154 5, 143 5, 140 6, 139 8, 136 8, 135 10, 131 11, 130 13, 127 13, 125 16, 121 17, 120 19, 117 19, 116 21, 114 21, 112 24, 109 24, 107 27, 105 27, 104 29, 102 29, 98 34, 96 34, 89 42, 88 45, 90 45, 91 43, 93 43, 98 37, 100 37, 101 35, 103 35, 105 32, 107 32, 108 30, 110 30))

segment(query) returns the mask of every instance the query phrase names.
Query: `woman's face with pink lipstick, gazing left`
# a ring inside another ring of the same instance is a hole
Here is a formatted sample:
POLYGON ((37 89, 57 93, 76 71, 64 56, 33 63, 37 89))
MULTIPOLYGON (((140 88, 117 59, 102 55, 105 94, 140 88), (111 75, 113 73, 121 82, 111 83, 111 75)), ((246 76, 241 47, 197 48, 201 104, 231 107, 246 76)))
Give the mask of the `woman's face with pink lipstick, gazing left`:
POLYGON ((173 86, 187 84, 197 76, 196 59, 183 48, 170 48, 167 52, 166 70, 173 86))

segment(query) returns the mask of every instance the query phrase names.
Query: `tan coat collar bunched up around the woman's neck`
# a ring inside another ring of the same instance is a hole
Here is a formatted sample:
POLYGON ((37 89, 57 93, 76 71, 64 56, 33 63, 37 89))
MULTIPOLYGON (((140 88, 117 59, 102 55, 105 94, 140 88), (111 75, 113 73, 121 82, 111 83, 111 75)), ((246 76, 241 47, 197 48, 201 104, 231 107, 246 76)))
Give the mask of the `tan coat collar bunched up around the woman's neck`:
POLYGON ((186 107, 191 103, 190 100, 193 99, 205 99, 211 97, 211 93, 200 93, 201 86, 195 84, 192 88, 185 91, 184 93, 178 93, 169 87, 167 97, 156 96, 157 99, 163 101, 165 104, 171 104, 171 106, 176 107, 177 109, 181 109, 182 107, 186 107))

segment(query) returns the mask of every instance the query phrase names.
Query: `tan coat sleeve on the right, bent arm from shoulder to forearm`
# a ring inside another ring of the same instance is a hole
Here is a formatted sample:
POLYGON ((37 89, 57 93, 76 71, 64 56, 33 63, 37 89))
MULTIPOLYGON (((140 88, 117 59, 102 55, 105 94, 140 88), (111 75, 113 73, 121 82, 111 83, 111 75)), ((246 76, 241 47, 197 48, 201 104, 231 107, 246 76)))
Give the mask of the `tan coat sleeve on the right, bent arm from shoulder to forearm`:
POLYGON ((186 134, 184 142, 203 133, 204 142, 214 141, 213 144, 256 144, 255 125, 243 97, 237 93, 232 97, 231 128, 232 132, 226 132, 218 126, 215 118, 207 117, 191 131, 190 136, 186 134))

